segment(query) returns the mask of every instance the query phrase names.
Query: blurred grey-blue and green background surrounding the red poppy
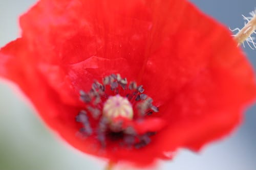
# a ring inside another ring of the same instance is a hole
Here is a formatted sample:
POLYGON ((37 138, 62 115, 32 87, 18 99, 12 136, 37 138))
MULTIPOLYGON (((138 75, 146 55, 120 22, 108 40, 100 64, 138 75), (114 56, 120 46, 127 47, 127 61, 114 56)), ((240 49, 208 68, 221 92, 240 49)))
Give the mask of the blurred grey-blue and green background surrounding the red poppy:
MULTIPOLYGON (((19 33, 17 18, 35 0, 0 0, 0 46, 19 33)), ((191 0, 202 11, 231 29, 242 28, 242 14, 256 7, 255 0, 191 0)), ((256 68, 256 50, 244 48, 256 68)), ((0 170, 85 170, 103 169, 104 162, 80 153, 60 141, 34 114, 17 92, 0 82, 0 170)), ((255 170, 256 106, 250 108, 244 123, 224 140, 210 143, 195 154, 181 150, 173 161, 161 162, 157 169, 255 170)))

